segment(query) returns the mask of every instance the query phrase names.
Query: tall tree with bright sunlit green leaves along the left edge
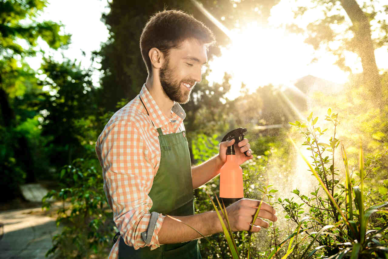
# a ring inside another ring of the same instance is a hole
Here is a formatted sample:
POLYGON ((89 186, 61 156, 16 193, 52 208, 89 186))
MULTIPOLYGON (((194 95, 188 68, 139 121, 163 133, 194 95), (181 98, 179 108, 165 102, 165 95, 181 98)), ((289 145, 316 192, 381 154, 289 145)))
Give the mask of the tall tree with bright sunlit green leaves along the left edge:
POLYGON ((53 49, 69 42, 69 35, 59 35, 60 24, 36 21, 46 3, 45 0, 0 1, 0 130, 6 132, 0 143, 0 170, 7 176, 1 187, 9 194, 4 199, 20 195, 17 185, 24 180, 36 179, 33 153, 37 143, 29 137, 36 137, 39 110, 27 107, 26 100, 34 99, 42 89, 35 71, 24 58, 36 55, 34 47, 39 38, 53 49))

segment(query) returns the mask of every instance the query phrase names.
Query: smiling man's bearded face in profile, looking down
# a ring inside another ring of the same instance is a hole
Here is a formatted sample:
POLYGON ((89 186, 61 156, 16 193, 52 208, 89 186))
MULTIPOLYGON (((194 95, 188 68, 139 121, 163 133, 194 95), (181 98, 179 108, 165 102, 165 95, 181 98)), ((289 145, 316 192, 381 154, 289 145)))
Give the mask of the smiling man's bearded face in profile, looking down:
POLYGON ((207 63, 206 47, 197 40, 185 40, 171 49, 159 71, 165 95, 177 103, 187 103, 196 82, 201 82, 201 67, 207 63))

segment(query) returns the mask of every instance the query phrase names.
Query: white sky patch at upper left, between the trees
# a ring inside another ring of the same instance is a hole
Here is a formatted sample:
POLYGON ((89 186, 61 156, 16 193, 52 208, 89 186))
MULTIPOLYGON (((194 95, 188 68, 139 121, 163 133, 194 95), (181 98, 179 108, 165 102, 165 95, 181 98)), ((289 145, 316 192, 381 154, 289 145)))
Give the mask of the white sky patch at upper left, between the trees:
MULTIPOLYGON (((43 9, 43 13, 38 21, 50 20, 54 22, 61 22, 63 33, 70 33, 71 44, 68 49, 53 51, 43 40, 40 41, 39 46, 54 56, 57 61, 62 60, 62 54, 71 60, 81 62, 81 68, 87 69, 90 66, 100 68, 97 60, 92 62, 92 51, 100 50, 100 43, 106 42, 109 37, 109 31, 105 24, 100 21, 101 14, 109 12, 107 8, 107 0, 49 0, 49 5, 43 9), (82 56, 82 51, 86 56, 82 56)), ((40 67, 42 56, 26 59, 30 66, 37 70, 40 67)), ((99 85, 100 73, 96 70, 92 76, 95 86, 99 85)))

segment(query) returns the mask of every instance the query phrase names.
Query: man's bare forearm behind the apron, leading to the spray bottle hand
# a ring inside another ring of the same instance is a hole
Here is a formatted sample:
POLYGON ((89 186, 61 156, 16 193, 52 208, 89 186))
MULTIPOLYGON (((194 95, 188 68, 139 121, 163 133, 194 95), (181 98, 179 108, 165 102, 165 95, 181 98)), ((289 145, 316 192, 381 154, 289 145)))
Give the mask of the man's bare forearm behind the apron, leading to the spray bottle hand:
POLYGON ((223 165, 221 158, 213 156, 208 161, 191 168, 193 189, 207 183, 220 173, 223 165))

